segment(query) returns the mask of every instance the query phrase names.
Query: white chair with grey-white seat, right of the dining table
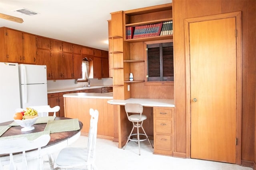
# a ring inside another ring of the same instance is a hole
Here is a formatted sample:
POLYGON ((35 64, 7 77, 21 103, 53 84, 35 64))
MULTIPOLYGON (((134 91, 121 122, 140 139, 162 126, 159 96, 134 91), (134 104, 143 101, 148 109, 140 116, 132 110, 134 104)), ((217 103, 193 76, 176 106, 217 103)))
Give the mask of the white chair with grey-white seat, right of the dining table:
POLYGON ((96 166, 94 165, 94 158, 99 112, 98 110, 94 111, 93 109, 90 109, 90 115, 91 119, 87 148, 68 147, 62 149, 58 154, 58 157, 55 162, 55 165, 58 168, 88 168, 91 170, 96 170, 96 166))

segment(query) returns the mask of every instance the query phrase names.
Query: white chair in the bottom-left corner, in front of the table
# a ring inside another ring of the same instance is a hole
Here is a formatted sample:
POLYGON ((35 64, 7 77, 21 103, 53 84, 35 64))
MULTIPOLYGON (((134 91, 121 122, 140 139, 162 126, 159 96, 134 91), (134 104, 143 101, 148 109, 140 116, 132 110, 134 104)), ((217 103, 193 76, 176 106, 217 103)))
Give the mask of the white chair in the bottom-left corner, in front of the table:
MULTIPOLYGON (((26 137, 16 139, 2 139, 0 140, 0 154, 9 154, 8 160, 0 159, 0 169, 3 169, 4 165, 10 162, 9 170, 16 170, 16 164, 21 162, 21 169, 28 170, 27 160, 37 159, 38 163, 36 168, 43 169, 43 160, 41 156, 41 147, 44 147, 50 141, 50 135, 42 135, 34 141, 28 141, 26 137), (38 154, 33 154, 29 158, 26 156, 26 151, 38 149, 38 154), (22 152, 22 156, 14 154, 22 152), (1 162, 2 160, 2 162, 1 162)), ((35 168, 35 169, 36 169, 35 168)))

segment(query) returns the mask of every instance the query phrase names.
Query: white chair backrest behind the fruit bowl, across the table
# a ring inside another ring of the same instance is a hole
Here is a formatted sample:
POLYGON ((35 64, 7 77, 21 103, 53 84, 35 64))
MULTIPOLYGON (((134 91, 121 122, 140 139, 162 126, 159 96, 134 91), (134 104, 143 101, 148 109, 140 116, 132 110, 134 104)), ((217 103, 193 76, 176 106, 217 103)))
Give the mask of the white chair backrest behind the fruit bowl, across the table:
POLYGON ((41 116, 41 117, 49 116, 49 113, 53 113, 53 116, 56 116, 56 112, 58 112, 60 110, 60 106, 54 106, 51 108, 49 105, 30 106, 30 108, 35 109, 38 113, 38 116, 41 116))

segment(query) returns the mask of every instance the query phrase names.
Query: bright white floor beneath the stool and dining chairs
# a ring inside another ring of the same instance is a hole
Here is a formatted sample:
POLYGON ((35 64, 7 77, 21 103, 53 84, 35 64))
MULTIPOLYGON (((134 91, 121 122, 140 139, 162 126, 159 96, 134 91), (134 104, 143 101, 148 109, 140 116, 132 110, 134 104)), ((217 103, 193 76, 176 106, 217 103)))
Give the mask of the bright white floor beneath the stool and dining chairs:
MULTIPOLYGON (((80 136, 71 147, 86 147, 88 137, 80 136)), ((129 142, 126 149, 118 149, 118 143, 97 138, 96 161, 98 170, 252 170, 252 168, 198 159, 175 158, 153 154, 147 141, 138 145, 129 142)))

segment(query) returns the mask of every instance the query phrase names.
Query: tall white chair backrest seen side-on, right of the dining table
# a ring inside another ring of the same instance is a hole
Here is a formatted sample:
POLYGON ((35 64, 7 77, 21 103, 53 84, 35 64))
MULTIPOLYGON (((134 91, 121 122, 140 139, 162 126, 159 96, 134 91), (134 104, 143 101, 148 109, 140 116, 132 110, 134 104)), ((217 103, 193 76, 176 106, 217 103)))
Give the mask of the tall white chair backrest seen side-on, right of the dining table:
POLYGON ((97 129, 98 129, 98 110, 90 109, 90 129, 88 134, 88 157, 87 162, 93 161, 95 158, 95 149, 96 149, 96 138, 97 138, 97 129))

